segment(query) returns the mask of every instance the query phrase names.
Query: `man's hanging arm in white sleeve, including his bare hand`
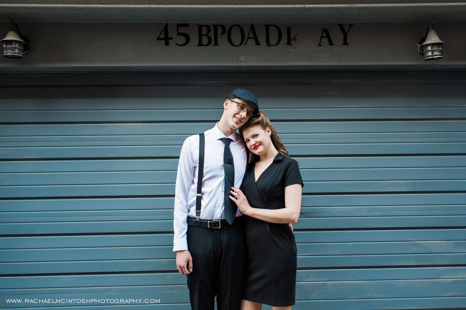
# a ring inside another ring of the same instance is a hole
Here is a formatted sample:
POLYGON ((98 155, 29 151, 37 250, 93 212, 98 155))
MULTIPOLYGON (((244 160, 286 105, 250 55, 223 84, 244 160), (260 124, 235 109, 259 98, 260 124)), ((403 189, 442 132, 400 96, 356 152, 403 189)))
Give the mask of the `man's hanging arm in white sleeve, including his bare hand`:
POLYGON ((173 251, 177 252, 176 264, 181 274, 192 271, 192 257, 188 251, 186 231, 188 225, 188 195, 189 187, 194 182, 194 156, 192 138, 188 138, 181 147, 178 161, 178 171, 175 184, 175 204, 173 207, 173 251))

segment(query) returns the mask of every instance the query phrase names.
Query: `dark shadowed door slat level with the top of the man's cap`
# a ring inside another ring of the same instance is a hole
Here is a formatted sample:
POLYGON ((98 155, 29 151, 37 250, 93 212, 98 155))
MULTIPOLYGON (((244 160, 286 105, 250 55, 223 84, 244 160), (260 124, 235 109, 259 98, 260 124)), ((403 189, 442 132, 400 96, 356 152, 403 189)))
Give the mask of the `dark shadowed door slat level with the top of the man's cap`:
MULTIPOLYGON (((451 72, 450 72, 451 73, 451 72)), ((436 74, 435 74, 436 75, 436 74)), ((221 80, 221 79, 220 79, 221 80)), ((0 96, 4 99, 50 99, 50 98, 186 98, 193 97, 221 97, 227 98, 232 90, 246 87, 258 97, 266 96, 391 96, 403 98, 405 96, 458 96, 466 95, 464 80, 457 85, 386 85, 386 81, 374 85, 357 85, 357 83, 343 83, 346 85, 283 85, 283 79, 274 85, 247 85, 244 81, 232 85, 213 86, 49 86, 49 87, 18 87, 10 86, 0 89, 0 96), (353 85, 351 85, 353 84, 353 85)), ((323 83, 325 84, 325 83, 323 83)), ((377 84, 377 83, 376 83, 377 84)), ((21 85, 24 85, 21 82, 21 85)))

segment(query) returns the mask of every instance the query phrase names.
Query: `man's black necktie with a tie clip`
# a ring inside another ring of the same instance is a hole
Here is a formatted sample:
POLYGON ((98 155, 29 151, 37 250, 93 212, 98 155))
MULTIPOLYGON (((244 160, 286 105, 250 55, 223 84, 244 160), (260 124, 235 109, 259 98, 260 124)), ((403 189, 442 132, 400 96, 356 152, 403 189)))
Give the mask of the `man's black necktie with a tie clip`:
POLYGON ((232 224, 236 217, 238 206, 230 199, 230 191, 234 185, 234 163, 233 155, 230 150, 230 138, 220 139, 225 144, 223 151, 223 169, 225 170, 225 219, 228 224, 232 224))

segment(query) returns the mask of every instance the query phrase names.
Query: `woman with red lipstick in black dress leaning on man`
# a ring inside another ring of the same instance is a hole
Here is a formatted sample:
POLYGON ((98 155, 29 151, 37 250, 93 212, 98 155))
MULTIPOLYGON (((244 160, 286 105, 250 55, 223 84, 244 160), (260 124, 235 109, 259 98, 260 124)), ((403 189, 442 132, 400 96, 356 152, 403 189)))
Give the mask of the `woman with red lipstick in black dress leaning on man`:
POLYGON ((291 309, 295 304, 296 244, 288 223, 298 221, 302 183, 298 162, 259 112, 240 128, 247 148, 258 155, 248 165, 232 199, 245 215, 247 262, 241 310, 291 309))

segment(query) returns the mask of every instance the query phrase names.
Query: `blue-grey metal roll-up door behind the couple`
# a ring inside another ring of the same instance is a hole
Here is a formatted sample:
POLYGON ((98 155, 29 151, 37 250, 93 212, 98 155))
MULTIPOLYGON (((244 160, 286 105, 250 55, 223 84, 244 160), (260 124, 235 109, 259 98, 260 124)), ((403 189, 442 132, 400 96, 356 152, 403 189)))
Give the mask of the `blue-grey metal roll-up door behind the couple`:
POLYGON ((463 75, 171 74, 0 91, 1 308, 190 309, 172 252, 178 156, 238 86, 305 181, 293 309, 466 307, 463 75))

